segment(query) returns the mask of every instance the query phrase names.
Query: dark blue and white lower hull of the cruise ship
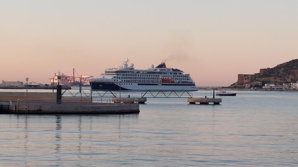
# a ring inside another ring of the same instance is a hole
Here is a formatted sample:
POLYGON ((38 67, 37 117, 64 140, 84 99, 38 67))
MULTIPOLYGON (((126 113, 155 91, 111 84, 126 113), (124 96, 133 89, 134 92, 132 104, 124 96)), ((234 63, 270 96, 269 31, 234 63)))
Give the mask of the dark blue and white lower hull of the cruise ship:
MULTIPOLYGON (((90 81, 92 90, 119 90, 119 82, 90 81)), ((187 90, 197 91, 195 83, 121 83, 121 90, 187 90)))

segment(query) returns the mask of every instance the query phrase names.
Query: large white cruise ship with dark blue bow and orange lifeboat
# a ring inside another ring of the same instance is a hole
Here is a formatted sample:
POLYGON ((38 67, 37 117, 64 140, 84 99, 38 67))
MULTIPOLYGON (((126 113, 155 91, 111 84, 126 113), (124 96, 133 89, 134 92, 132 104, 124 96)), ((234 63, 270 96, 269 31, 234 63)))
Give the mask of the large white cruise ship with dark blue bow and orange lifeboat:
POLYGON ((89 78, 92 90, 187 90, 197 91, 190 74, 167 68, 164 62, 147 70, 136 70, 129 59, 118 68, 105 69, 98 78, 89 78))

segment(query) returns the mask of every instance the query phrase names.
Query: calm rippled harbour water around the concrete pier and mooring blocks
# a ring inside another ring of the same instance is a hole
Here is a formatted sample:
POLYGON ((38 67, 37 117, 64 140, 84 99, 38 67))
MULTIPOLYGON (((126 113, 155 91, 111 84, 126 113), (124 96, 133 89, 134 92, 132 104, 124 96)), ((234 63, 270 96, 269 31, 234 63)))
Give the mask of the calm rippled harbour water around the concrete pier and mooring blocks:
POLYGON ((237 91, 221 105, 148 98, 139 114, 0 115, 0 165, 297 166, 297 97, 237 91))

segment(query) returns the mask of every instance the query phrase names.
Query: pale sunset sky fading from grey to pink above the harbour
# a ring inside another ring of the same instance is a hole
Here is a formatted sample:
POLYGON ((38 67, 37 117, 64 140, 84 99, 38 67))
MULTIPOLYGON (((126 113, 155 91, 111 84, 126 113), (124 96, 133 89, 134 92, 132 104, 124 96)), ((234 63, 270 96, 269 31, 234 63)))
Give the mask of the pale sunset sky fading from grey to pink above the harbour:
POLYGON ((297 1, 2 1, 0 79, 99 76, 127 57, 229 86, 298 58, 297 1))

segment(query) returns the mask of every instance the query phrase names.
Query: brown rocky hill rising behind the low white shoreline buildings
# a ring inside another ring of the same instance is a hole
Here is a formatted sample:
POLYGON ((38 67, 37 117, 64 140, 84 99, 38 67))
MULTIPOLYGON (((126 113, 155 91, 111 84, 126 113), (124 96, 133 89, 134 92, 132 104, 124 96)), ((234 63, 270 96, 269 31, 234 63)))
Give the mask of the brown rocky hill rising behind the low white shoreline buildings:
MULTIPOLYGON (((250 76, 249 81, 242 81, 242 78, 239 78, 236 83, 233 83, 231 88, 243 88, 245 84, 250 84, 255 86, 256 84, 260 85, 265 83, 291 83, 298 81, 298 59, 291 60, 282 64, 278 64, 273 68, 264 68, 260 69, 260 73, 255 73, 254 76, 250 76)), ((261 86, 261 85, 260 85, 261 86)))

